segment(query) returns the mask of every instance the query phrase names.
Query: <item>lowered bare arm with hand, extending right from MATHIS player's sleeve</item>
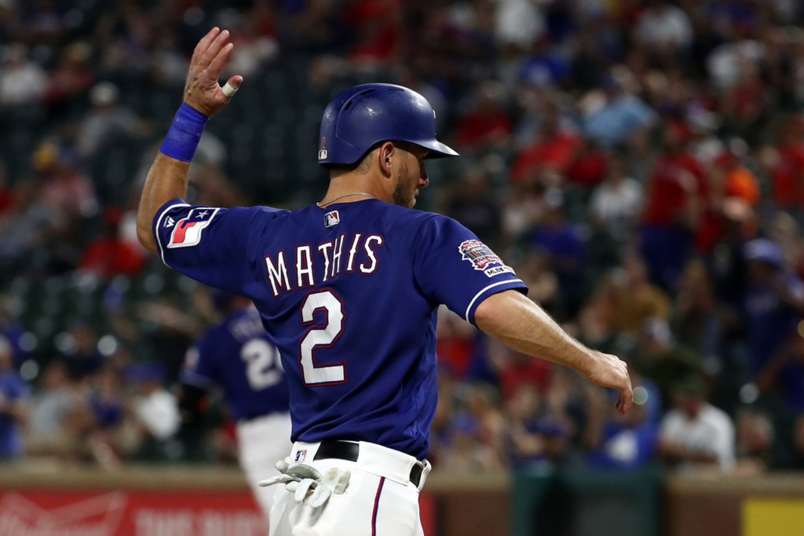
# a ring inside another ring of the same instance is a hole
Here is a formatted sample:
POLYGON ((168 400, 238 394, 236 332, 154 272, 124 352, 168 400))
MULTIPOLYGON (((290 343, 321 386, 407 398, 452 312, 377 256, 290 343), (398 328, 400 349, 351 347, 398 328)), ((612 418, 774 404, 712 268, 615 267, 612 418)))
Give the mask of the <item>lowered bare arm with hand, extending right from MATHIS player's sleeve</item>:
POLYGON ((478 305, 474 321, 483 332, 517 352, 564 365, 598 385, 619 390, 617 410, 630 410, 634 394, 627 365, 616 356, 580 344, 519 292, 490 295, 478 305))

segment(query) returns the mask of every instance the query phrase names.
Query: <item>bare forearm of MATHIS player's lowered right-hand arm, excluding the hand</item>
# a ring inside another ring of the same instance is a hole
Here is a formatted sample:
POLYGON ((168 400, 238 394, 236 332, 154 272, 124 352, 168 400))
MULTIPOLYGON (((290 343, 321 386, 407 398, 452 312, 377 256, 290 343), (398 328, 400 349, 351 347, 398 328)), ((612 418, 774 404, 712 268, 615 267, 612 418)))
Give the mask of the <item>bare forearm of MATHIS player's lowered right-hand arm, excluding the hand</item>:
POLYGON ((509 348, 588 375, 596 353, 573 339, 544 309, 517 291, 491 295, 475 311, 483 332, 509 348))

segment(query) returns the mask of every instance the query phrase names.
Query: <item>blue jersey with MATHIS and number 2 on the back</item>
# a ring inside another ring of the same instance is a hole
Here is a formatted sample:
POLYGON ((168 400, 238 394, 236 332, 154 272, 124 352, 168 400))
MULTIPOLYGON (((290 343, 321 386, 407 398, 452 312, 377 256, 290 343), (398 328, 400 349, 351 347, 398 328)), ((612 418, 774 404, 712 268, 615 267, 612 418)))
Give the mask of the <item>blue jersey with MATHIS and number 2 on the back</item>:
POLYGON ((154 234, 167 266, 252 299, 285 366, 293 441, 363 440, 423 458, 437 307, 474 324, 488 296, 527 291, 457 221, 380 200, 293 212, 172 200, 154 234))

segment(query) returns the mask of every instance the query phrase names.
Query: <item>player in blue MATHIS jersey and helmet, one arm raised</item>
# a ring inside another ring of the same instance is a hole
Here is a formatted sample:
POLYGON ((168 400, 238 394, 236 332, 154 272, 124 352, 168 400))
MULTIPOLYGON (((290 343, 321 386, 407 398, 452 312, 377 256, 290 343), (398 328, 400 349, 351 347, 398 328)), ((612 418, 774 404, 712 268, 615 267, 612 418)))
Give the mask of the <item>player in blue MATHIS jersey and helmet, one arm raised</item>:
POLYGON ((232 50, 213 29, 191 60, 184 103, 147 176, 140 241, 167 266, 255 303, 289 381, 294 441, 270 516, 272 536, 422 534, 418 492, 437 403, 436 319, 444 303, 511 348, 619 390, 626 365, 573 340, 468 229, 412 210, 435 137, 424 97, 395 85, 340 93, 322 118, 321 203, 294 212, 194 207, 182 198, 232 50))

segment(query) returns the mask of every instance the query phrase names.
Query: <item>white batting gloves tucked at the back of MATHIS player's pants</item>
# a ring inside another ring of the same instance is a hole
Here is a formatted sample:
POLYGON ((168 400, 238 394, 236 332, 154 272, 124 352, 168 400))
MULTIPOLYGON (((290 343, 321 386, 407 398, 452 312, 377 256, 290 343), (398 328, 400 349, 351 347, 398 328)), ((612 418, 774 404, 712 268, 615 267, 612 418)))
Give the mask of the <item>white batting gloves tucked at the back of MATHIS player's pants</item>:
POLYGON ((297 464, 290 458, 278 461, 277 469, 281 475, 262 480, 260 486, 265 488, 273 484, 285 484, 285 489, 293 492, 293 499, 296 502, 310 498, 309 504, 313 508, 326 503, 333 493, 335 495, 343 493, 351 476, 347 470, 336 467, 322 475, 318 469, 307 464, 297 464))

